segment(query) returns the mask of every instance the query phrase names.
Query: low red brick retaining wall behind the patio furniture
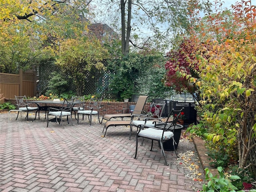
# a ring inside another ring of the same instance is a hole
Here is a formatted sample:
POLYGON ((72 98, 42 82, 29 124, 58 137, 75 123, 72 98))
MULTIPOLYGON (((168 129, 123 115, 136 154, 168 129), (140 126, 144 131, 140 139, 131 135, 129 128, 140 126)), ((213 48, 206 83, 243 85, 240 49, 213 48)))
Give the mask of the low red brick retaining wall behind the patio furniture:
MULTIPOLYGON (((28 100, 28 101, 34 101, 34 100, 28 100)), ((17 102, 16 99, 6 99, 5 102, 10 102, 11 104, 14 104, 16 106, 17 102)), ((89 102, 85 103, 85 106, 87 106, 89 102)), ((148 111, 150 108, 151 103, 146 103, 144 106, 144 111, 148 111)), ((36 104, 34 104, 36 106, 36 104)), ((103 116, 105 114, 118 114, 122 113, 122 110, 125 108, 124 113, 129 112, 129 106, 130 105, 136 105, 136 102, 101 102, 102 108, 100 109, 100 116, 103 116)), ((60 104, 51 104, 51 106, 61 106, 60 104)))

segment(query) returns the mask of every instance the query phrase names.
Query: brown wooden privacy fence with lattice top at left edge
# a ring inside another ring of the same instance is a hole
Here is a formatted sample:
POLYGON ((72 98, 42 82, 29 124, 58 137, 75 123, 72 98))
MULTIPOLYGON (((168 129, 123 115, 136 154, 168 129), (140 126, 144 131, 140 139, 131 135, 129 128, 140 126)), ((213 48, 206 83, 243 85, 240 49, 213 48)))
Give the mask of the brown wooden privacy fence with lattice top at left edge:
POLYGON ((0 89, 4 98, 14 98, 15 95, 34 97, 36 96, 36 72, 19 70, 19 74, 0 73, 0 89))

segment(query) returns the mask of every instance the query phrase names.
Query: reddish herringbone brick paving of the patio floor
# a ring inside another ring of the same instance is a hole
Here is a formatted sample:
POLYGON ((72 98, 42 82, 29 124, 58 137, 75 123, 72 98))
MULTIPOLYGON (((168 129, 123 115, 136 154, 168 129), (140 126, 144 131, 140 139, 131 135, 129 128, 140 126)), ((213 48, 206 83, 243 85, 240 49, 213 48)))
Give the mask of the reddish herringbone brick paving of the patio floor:
MULTIPOLYGON (((27 122, 16 113, 0 114, 0 191, 2 192, 186 192, 202 189, 186 175, 189 170, 168 151, 164 165, 160 149, 150 152, 150 141, 135 153, 135 130, 110 127, 102 137, 103 125, 96 118, 65 128, 44 116, 27 122)), ((32 120, 33 115, 30 116, 32 120)), ((181 141, 178 153, 194 150, 181 141)), ((195 157, 197 159, 198 157, 195 157)), ((202 169, 200 173, 203 174, 202 169)))

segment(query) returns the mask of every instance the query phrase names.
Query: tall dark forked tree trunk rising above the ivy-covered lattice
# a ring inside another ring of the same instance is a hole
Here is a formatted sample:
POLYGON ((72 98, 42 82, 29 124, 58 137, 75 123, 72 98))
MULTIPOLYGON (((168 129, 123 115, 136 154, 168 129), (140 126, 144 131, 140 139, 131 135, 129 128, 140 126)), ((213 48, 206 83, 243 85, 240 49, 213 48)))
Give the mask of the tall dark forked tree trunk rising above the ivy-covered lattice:
POLYGON ((127 31, 125 23, 125 2, 120 1, 121 7, 121 22, 122 22, 122 54, 126 56, 129 53, 129 42, 131 34, 131 15, 132 15, 132 0, 128 0, 128 17, 127 17, 127 31), (126 33, 125 33, 126 31, 126 33))

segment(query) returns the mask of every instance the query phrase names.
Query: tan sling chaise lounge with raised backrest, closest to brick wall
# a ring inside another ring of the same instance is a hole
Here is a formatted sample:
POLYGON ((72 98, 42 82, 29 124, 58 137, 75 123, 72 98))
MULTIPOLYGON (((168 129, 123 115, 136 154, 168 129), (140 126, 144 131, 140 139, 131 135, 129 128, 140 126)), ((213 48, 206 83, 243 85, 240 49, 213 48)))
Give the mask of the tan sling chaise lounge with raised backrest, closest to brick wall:
POLYGON ((136 106, 132 113, 119 113, 119 114, 106 114, 102 117, 102 120, 100 124, 102 124, 103 120, 111 120, 112 118, 121 118, 123 120, 124 117, 131 117, 132 114, 141 114, 143 111, 143 108, 146 104, 148 96, 139 96, 138 101, 136 103, 136 106))

